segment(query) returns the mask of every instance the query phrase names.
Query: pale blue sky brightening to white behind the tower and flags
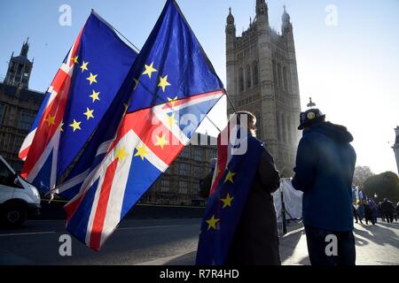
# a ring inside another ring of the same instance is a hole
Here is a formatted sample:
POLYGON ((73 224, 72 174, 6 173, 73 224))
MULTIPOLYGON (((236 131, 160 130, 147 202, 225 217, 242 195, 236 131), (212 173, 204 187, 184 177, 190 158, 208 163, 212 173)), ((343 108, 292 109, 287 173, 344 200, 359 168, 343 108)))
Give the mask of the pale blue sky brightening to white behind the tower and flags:
MULTIPOLYGON (((231 6, 238 33, 254 19, 255 0, 177 1, 220 78, 225 81, 224 25, 231 6)), ((2 1, 0 78, 12 51, 29 36, 35 57, 29 87, 44 91, 93 8, 139 48, 158 19, 164 0, 2 1), (72 8, 72 26, 59 26, 59 6, 72 8)), ((373 172, 397 172, 388 142, 399 125, 399 1, 273 0, 270 26, 280 29, 283 4, 293 22, 302 107, 312 96, 327 119, 354 134, 357 164, 373 172), (327 5, 337 26, 327 26, 327 5)))

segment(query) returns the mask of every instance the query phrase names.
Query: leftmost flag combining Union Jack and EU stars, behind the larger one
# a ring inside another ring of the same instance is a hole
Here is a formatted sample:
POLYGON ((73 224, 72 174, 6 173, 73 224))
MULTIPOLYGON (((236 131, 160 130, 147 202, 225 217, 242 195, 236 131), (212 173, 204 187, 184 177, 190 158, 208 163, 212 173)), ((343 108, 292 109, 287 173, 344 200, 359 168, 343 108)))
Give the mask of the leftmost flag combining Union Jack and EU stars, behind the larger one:
MULTIPOLYGON (((59 68, 20 149, 21 176, 43 193, 67 180, 85 144, 117 98, 137 52, 92 12, 59 68), (112 70, 112 72, 110 72, 112 70)), ((118 104, 115 107, 123 107, 118 104)), ((87 160, 85 162, 88 162, 87 160)), ((90 164, 80 164, 90 168, 90 164)), ((87 169, 87 168, 86 168, 87 169)))

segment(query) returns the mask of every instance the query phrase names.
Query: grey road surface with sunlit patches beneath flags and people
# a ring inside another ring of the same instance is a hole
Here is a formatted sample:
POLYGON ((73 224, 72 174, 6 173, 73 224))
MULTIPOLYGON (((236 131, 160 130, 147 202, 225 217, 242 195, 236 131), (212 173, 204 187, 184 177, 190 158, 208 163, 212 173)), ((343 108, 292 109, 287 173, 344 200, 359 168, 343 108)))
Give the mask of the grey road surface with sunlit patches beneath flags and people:
MULTIPOLYGON (((306 236, 291 223, 280 240, 283 265, 308 265, 306 236)), ((103 249, 95 252, 72 239, 72 256, 59 255, 64 221, 27 221, 16 230, 0 229, 0 264, 138 264, 195 263, 200 218, 127 219, 103 249)), ((399 264, 399 223, 355 224, 357 265, 399 264)))

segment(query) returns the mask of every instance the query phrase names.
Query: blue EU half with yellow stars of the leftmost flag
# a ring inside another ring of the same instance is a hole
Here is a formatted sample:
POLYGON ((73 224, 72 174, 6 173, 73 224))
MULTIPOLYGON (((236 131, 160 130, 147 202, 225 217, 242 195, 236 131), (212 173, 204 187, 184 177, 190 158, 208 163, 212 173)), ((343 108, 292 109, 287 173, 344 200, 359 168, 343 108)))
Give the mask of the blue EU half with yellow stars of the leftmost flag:
POLYGON ((66 99, 59 125, 59 142, 33 180, 44 193, 48 193, 54 185, 80 175, 90 166, 93 155, 81 157, 85 150, 92 153, 98 149, 96 142, 99 140, 91 142, 92 147, 87 148, 98 128, 115 129, 118 126, 125 111, 121 103, 124 98, 118 95, 119 90, 135 62, 137 52, 121 41, 113 27, 92 12, 68 57, 70 62, 66 59, 64 65, 71 63, 73 67, 68 68, 69 71, 61 67, 59 71, 68 72, 71 77, 64 80, 59 88, 62 89, 62 97, 65 97, 62 99, 66 99), (119 117, 113 124, 106 119, 106 112, 109 111, 119 117), (74 171, 72 175, 71 170, 74 171))

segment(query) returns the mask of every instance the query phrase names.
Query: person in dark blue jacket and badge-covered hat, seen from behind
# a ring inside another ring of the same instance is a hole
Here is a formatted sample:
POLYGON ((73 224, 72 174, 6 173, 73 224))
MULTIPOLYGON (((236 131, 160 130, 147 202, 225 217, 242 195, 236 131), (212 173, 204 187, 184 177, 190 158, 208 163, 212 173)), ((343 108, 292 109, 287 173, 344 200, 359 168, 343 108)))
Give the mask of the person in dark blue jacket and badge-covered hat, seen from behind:
POLYGON ((352 134, 345 126, 325 122, 325 115, 318 109, 301 112, 300 119, 298 129, 303 129, 303 134, 293 187, 303 191, 302 215, 310 263, 353 265, 356 249, 351 186, 356 152, 349 144, 352 134), (335 251, 333 246, 337 247, 335 251))

